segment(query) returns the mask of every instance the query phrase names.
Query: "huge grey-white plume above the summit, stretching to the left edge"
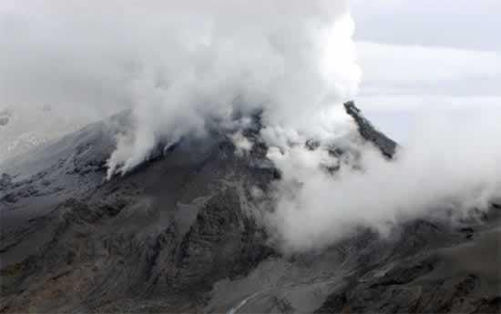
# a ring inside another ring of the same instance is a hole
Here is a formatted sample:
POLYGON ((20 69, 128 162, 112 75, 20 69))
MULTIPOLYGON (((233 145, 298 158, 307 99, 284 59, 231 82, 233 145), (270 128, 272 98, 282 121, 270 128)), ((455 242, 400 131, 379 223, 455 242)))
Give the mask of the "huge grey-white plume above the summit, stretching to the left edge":
POLYGON ((208 119, 264 109, 308 130, 360 80, 347 0, 9 1, 0 11, 0 103, 104 116, 132 108, 109 176, 208 119))

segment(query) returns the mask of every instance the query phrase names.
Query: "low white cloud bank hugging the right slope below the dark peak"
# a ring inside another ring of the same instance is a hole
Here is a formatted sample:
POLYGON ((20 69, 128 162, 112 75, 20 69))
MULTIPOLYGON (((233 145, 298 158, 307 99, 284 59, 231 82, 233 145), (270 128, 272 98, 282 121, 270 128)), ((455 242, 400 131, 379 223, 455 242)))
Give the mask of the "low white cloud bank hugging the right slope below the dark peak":
POLYGON ((479 113, 458 124, 457 117, 434 114, 421 121, 394 160, 370 145, 358 146, 361 169, 341 167, 333 176, 324 166, 338 160, 322 147, 271 148, 268 156, 282 180, 265 224, 276 231, 281 248, 323 248, 355 227, 384 234, 412 218, 454 222, 471 217, 472 209, 489 208, 501 188, 501 116, 479 113))

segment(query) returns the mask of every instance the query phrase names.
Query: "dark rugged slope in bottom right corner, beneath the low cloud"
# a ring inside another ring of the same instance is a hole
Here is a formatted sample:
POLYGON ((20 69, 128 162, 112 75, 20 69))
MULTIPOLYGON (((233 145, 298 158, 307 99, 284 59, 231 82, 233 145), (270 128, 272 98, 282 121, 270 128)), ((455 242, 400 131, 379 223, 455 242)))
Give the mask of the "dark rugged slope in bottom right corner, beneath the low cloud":
POLYGON ((441 238, 419 236, 428 245, 435 242, 433 247, 368 263, 369 268, 355 272, 316 312, 499 313, 501 259, 498 245, 489 244, 491 237, 501 240, 498 224, 484 231, 437 226, 441 238))

